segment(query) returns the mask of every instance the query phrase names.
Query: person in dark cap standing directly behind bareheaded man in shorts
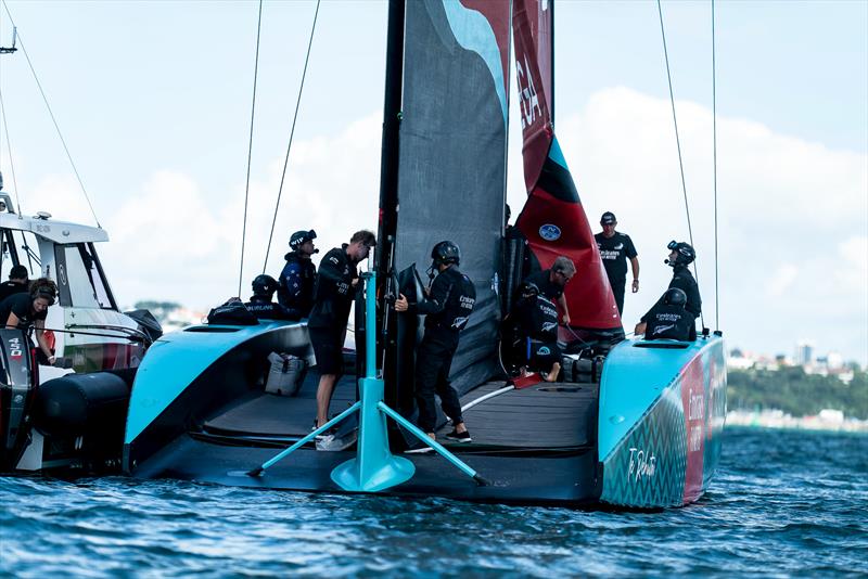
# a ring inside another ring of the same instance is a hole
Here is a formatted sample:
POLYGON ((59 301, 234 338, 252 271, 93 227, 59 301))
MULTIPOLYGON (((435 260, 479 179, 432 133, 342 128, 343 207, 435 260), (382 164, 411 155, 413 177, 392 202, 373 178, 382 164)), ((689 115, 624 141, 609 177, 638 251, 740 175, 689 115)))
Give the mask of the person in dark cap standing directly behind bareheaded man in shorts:
POLYGON ((318 254, 314 247, 317 233, 296 231, 290 237, 290 253, 283 258, 286 265, 280 272, 280 287, 278 287, 278 303, 286 308, 297 319, 307 318, 314 307, 314 282, 317 268, 310 261, 310 256, 318 254))

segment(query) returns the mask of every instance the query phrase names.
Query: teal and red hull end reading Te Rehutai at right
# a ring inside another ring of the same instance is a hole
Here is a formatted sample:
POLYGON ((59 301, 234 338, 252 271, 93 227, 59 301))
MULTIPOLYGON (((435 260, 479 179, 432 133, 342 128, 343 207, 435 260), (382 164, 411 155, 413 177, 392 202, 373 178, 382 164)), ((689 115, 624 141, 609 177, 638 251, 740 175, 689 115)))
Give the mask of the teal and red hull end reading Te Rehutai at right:
POLYGON ((725 417, 723 338, 623 342, 600 382, 600 500, 639 509, 695 501, 717 467, 725 417))

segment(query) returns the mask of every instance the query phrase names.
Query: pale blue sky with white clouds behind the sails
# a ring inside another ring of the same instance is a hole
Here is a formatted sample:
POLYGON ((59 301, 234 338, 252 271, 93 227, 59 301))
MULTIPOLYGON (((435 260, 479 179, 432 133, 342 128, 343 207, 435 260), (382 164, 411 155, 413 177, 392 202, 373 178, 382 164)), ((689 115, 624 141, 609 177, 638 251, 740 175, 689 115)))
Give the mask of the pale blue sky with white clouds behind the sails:
MULTIPOLYGON (((258 4, 5 5, 110 234, 99 252, 120 304, 207 310, 237 295, 258 4)), ((266 265, 315 7, 264 4, 244 295, 266 265)), ((295 230, 316 229, 323 253, 375 230, 386 8, 320 7, 272 275, 295 230)), ((556 15, 556 132, 595 230, 612 210, 639 252, 630 330, 668 282, 666 243, 688 239, 656 3, 561 0, 556 15)), ((711 4, 664 1, 663 15, 705 325, 731 347, 789 355, 807 339, 868 363, 868 3, 716 2, 716 262, 711 4)), ((93 224, 22 51, 0 56, 0 90, 5 189, 25 213, 93 224)))

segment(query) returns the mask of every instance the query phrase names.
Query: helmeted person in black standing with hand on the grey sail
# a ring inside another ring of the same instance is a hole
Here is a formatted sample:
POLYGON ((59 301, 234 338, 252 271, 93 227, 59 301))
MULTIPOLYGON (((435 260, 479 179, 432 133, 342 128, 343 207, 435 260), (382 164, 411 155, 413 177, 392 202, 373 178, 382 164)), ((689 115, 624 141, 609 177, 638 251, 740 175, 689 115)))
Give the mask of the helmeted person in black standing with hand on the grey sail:
MULTIPOLYGON (((395 301, 396 311, 425 316, 425 334, 416 353, 416 401, 419 407, 419 427, 432 439, 437 409, 434 395, 441 397, 443 412, 452 421, 452 432, 446 438, 470 442, 470 433, 461 415, 458 394, 449 384, 452 357, 458 349, 459 333, 467 326, 476 303, 476 288, 470 278, 458 270, 461 250, 450 241, 442 241, 431 250, 432 269, 437 276, 427 297, 418 304, 404 295, 395 301)), ((427 450, 424 447, 419 450, 427 450)))

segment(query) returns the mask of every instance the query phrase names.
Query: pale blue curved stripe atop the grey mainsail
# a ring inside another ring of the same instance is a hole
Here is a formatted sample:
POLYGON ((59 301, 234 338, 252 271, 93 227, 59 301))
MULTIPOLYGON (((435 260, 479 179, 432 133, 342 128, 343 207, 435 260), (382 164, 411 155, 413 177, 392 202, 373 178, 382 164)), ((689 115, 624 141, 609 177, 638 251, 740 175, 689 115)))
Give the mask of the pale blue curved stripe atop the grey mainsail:
POLYGON ((475 10, 464 8, 458 0, 443 0, 446 18, 452 28, 455 39, 462 48, 482 56, 495 80, 495 91, 500 100, 503 125, 507 124, 507 90, 503 81, 503 67, 500 65, 500 49, 488 18, 475 10))

